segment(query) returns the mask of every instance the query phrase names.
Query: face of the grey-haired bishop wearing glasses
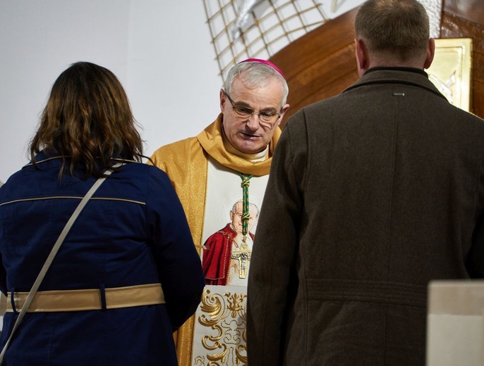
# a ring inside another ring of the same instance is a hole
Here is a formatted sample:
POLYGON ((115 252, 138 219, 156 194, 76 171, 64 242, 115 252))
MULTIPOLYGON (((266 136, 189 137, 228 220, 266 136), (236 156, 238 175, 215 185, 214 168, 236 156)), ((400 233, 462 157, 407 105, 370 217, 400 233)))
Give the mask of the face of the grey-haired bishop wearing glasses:
POLYGON ((258 153, 263 151, 270 143, 276 127, 281 123, 282 117, 289 105, 281 110, 284 87, 276 77, 267 80, 262 87, 249 89, 243 84, 240 77, 236 77, 227 96, 220 91, 220 108, 224 115, 222 128, 224 135, 235 149, 243 153, 258 153), (238 115, 232 106, 244 106, 255 112, 279 113, 271 124, 260 123, 258 114, 248 117, 238 115))

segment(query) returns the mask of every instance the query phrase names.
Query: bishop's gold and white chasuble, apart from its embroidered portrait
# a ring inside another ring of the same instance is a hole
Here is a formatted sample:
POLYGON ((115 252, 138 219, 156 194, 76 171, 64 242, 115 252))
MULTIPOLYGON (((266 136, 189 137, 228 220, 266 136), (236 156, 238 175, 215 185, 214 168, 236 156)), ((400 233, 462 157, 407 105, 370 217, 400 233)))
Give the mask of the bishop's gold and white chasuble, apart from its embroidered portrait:
MULTIPOLYGON (((277 127, 267 151, 244 155, 223 143, 219 115, 197 137, 162 146, 153 154, 153 163, 167 172, 179 195, 200 258, 205 241, 231 223, 231 210, 243 198, 240 173, 251 176, 248 200, 260 209, 280 134, 277 127)), ((256 227, 255 223, 250 233, 255 235, 256 227)), ((238 235, 231 243, 226 285, 205 286, 195 315, 176 332, 181 366, 247 364, 247 279, 253 241, 247 233, 244 258, 237 254, 241 253, 240 241, 238 235), (248 266, 245 278, 241 278, 241 263, 248 266)))

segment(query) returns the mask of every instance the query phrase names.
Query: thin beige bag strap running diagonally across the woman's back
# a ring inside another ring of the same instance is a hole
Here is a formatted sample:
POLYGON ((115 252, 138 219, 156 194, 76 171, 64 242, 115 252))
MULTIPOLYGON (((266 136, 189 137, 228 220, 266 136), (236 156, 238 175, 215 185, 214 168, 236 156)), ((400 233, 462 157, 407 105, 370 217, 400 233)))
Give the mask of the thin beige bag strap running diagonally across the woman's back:
MULTIPOLYGON (((118 168, 123 163, 117 163, 113 165, 113 168, 118 168)), ((61 234, 59 235, 59 238, 57 238, 56 243, 52 247, 52 250, 49 253, 49 256, 47 257, 47 260, 45 261, 42 270, 40 270, 40 273, 37 275, 37 279, 35 279, 34 284, 32 285, 32 289, 30 289, 29 294, 27 298, 25 299, 25 303, 23 304, 22 309, 20 310, 20 313, 18 314, 17 320, 15 324, 13 324, 12 332, 10 336, 8 336, 8 339, 5 343, 4 349, 0 353, 0 365, 3 364, 4 362, 4 356, 6 353, 6 350, 8 346, 10 345, 13 333, 17 330, 18 325, 23 319, 23 316, 25 313, 27 313, 27 309, 30 306, 30 303, 32 303, 32 300, 34 299, 35 293, 37 292, 37 289, 39 289, 40 283, 42 282, 42 279, 44 279, 45 274, 47 273, 47 270, 49 270, 50 265, 52 264, 52 261, 54 260, 54 257, 56 256, 57 251, 59 251, 59 248, 61 247, 61 244, 63 243, 63 240, 66 238, 67 233, 71 229, 75 219, 78 218, 78 215, 80 214, 80 211, 83 210, 84 206, 86 205, 87 201, 92 197, 92 195, 97 191, 99 186, 104 182, 104 180, 107 178, 107 176, 111 175, 113 170, 108 169, 104 172, 105 177, 99 177, 95 184, 92 185, 91 189, 87 191, 87 194, 83 197, 83 199, 80 201, 78 206, 75 208, 73 214, 71 215, 71 218, 69 218, 68 222, 66 223, 66 226, 63 228, 61 234)))

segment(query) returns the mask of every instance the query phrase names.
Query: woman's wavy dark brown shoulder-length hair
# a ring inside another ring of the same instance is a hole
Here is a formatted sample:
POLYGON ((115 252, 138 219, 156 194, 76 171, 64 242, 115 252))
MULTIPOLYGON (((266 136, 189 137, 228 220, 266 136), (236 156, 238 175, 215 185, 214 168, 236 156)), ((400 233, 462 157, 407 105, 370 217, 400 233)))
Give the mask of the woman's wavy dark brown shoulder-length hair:
POLYGON ((52 86, 40 126, 30 141, 35 155, 62 157, 59 177, 75 168, 102 176, 112 158, 141 161, 143 141, 128 96, 116 75, 94 63, 73 63, 52 86))

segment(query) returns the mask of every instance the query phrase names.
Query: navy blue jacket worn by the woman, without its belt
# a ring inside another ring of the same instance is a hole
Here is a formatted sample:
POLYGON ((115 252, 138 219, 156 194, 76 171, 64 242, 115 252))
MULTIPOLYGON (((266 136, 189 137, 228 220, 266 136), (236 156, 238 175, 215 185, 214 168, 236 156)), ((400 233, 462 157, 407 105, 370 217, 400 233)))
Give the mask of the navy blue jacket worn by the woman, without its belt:
MULTIPOLYGON (((80 199, 95 183, 60 158, 24 167, 0 188, 0 290, 29 291, 80 199)), ((6 365, 177 365, 172 332, 200 303, 204 277, 179 198, 158 168, 130 162, 99 187, 39 291, 161 283, 166 304, 27 313, 6 365)), ((19 309, 20 310, 20 309, 19 309)), ((16 315, 4 316, 1 347, 16 315)))

